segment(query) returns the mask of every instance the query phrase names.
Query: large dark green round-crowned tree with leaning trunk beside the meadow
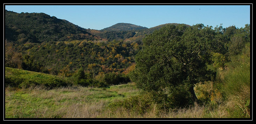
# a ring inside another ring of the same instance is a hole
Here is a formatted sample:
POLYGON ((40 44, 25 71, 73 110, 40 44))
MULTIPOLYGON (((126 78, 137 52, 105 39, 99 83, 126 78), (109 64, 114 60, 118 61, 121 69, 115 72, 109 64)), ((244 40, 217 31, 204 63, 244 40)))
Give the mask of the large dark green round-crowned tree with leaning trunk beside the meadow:
POLYGON ((215 76, 207 70, 211 51, 216 52, 215 47, 219 47, 215 34, 212 27, 203 24, 189 28, 166 25, 155 31, 143 39, 132 80, 141 89, 165 94, 166 89, 183 86, 191 100, 198 103, 194 85, 214 80, 215 76))

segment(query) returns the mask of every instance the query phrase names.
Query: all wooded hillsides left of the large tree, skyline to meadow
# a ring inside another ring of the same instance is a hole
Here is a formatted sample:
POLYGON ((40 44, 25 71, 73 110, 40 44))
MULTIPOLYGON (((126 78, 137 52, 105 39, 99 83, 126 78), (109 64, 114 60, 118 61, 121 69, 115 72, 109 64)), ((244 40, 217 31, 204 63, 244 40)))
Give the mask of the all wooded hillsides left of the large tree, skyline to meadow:
POLYGON ((123 73, 133 66, 145 35, 162 26, 118 23, 92 30, 44 13, 5 10, 6 57, 16 57, 15 67, 55 75, 71 75, 81 66, 94 75, 123 73))

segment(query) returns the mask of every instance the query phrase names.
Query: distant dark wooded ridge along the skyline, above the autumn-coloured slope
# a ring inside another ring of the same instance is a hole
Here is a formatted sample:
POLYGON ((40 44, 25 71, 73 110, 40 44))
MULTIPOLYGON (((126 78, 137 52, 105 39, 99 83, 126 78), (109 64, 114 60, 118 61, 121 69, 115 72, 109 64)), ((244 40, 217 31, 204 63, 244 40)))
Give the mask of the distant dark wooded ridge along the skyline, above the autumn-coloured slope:
MULTIPOLYGON (((175 24, 178 23, 168 23, 175 24)), ((45 13, 16 13, 5 10, 5 39, 16 44, 42 43, 45 41, 112 41, 150 34, 163 25, 147 28, 131 23, 116 23, 110 27, 85 29, 67 20, 45 13)))

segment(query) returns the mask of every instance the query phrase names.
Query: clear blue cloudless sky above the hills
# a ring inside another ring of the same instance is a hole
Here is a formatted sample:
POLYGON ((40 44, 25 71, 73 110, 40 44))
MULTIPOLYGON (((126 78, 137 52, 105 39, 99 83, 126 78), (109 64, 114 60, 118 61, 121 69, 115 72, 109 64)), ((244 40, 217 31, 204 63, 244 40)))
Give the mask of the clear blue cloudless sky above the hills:
POLYGON ((82 28, 101 30, 116 23, 131 23, 152 28, 166 23, 195 25, 202 23, 223 28, 250 24, 250 5, 11 5, 5 9, 17 13, 45 13, 65 19, 82 28))

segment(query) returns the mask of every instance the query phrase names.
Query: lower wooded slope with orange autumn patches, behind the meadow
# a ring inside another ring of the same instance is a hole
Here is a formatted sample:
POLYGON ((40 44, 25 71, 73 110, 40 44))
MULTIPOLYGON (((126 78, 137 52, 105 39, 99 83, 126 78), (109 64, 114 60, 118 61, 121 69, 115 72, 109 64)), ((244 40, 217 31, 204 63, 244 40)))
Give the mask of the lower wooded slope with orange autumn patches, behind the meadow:
POLYGON ((44 42, 24 51, 22 68, 54 75, 74 73, 80 66, 92 75, 121 73, 134 62, 139 50, 136 43, 116 40, 108 43, 44 42))

